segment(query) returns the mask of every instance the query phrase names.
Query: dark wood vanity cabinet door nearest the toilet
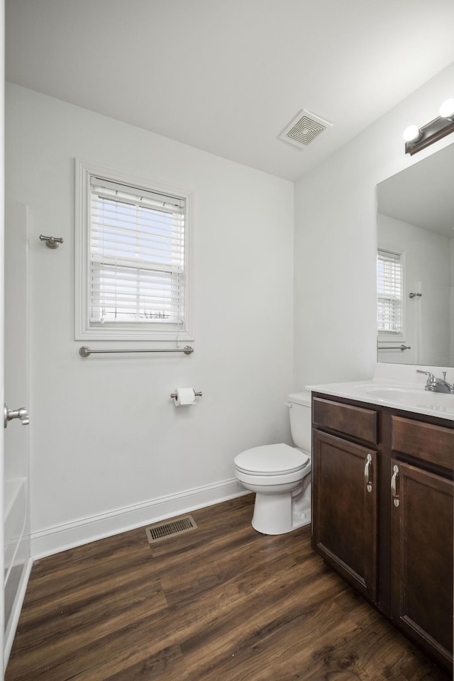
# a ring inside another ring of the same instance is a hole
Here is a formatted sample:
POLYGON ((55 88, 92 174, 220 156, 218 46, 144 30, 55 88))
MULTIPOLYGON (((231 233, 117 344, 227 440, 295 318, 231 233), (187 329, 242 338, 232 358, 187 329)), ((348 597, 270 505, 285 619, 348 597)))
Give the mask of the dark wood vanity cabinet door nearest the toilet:
POLYGON ((313 433, 313 546, 375 602, 377 453, 328 433, 313 433))

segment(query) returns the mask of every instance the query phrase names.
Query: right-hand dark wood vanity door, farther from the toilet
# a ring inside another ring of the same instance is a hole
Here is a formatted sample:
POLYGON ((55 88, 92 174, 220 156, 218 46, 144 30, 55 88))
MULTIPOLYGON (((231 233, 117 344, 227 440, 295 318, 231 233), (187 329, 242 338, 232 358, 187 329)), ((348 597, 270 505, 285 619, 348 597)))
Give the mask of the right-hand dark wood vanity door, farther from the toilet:
POLYGON ((440 662, 453 663, 453 482, 392 460, 394 619, 440 662))

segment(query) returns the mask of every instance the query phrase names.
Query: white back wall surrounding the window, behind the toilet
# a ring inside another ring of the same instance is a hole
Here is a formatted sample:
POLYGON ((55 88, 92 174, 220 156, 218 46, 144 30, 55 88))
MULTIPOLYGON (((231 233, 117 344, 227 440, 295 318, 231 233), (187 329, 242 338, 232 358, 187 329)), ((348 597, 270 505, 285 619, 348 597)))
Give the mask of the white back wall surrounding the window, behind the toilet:
POLYGON ((9 84, 6 187, 31 214, 35 555, 240 493, 236 453, 289 441, 293 184, 9 84), (79 357, 74 157, 194 191, 192 356, 79 357))

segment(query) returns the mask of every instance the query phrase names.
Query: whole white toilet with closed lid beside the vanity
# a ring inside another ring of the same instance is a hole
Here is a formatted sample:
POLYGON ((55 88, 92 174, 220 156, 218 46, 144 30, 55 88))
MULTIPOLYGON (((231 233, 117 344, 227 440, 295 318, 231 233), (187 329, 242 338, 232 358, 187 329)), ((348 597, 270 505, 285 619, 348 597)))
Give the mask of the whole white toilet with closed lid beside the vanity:
POLYGON ((311 393, 289 395, 285 404, 296 447, 262 445, 234 459, 238 481, 255 492, 252 525, 262 534, 284 534, 311 522, 311 393))

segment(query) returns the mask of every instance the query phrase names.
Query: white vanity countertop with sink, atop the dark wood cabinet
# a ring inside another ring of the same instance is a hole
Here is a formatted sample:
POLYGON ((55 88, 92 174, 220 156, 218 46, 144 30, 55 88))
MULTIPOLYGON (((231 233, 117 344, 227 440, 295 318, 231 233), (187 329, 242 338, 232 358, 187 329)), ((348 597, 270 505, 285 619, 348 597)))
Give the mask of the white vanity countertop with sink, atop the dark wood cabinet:
MULTIPOLYGON (((454 394, 426 390, 426 377, 416 374, 416 368, 420 367, 411 367, 411 372, 407 367, 405 374, 397 371, 390 377, 388 370, 380 370, 382 365, 377 366, 379 368, 370 380, 307 385, 306 389, 454 421, 454 394)), ((421 369, 426 370, 426 367, 421 369)), ((438 367, 428 367, 427 370, 441 377, 438 367)))

